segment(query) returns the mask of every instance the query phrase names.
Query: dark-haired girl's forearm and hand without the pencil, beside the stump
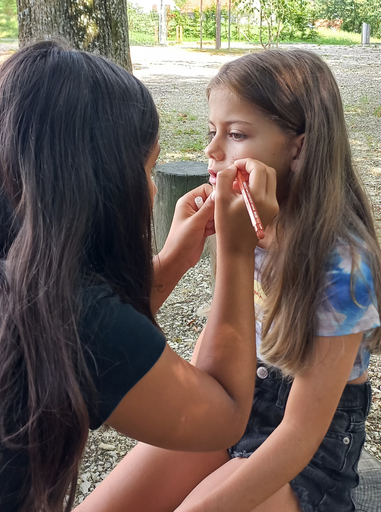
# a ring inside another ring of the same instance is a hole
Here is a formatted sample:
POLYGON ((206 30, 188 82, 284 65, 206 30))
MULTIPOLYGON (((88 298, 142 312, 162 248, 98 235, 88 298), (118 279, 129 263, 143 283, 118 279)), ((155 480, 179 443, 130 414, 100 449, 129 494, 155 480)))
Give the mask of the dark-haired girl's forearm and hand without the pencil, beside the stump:
POLYGON ((187 270, 199 260, 207 236, 214 233, 214 201, 209 197, 210 185, 201 185, 181 197, 167 240, 160 253, 154 257, 154 282, 151 308, 155 314, 187 270), (200 210, 194 199, 202 197, 200 210))

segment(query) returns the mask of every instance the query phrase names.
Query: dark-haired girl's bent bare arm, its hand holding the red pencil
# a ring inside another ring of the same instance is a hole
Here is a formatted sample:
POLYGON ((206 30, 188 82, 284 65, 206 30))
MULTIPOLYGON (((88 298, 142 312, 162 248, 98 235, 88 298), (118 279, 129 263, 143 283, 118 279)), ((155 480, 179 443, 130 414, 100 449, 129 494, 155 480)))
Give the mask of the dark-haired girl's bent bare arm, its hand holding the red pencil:
MULTIPOLYGON (((198 368, 168 346, 127 393, 107 424, 130 437, 174 450, 227 448, 250 413, 256 368, 253 297, 257 239, 242 197, 233 192, 236 169, 220 172, 215 222, 221 257, 198 368)), ((276 214, 274 169, 256 164, 250 190, 267 225, 276 214)))

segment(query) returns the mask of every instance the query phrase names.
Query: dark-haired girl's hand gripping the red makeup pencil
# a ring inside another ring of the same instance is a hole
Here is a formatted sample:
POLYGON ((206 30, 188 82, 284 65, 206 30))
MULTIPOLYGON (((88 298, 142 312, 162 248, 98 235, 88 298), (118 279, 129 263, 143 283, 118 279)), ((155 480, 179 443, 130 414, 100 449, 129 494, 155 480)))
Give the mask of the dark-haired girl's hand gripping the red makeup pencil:
POLYGON ((254 249, 258 243, 254 228, 241 194, 236 190, 235 179, 239 169, 248 178, 251 197, 254 201, 263 228, 279 211, 276 199, 276 172, 267 165, 245 158, 217 174, 216 184, 216 231, 226 250, 254 249))

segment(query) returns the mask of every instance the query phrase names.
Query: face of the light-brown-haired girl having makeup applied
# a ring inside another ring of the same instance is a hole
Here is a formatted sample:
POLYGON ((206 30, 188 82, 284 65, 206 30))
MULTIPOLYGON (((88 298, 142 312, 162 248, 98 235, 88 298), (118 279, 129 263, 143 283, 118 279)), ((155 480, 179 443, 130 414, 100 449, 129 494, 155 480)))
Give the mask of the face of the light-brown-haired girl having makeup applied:
POLYGON ((209 97, 210 143, 205 149, 209 159, 209 182, 240 158, 259 160, 277 172, 277 188, 282 190, 296 158, 300 137, 288 137, 252 103, 242 100, 227 87, 212 89, 209 97))

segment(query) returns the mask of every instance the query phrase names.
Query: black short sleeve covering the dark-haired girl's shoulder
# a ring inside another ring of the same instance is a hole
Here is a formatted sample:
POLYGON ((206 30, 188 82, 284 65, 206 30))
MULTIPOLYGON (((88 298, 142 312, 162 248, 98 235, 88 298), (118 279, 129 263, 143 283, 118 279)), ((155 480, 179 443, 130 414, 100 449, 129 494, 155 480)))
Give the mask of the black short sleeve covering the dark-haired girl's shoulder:
POLYGON ((152 368, 166 341, 148 317, 123 302, 109 285, 87 287, 83 297, 86 308, 79 334, 86 365, 99 395, 94 400, 85 390, 90 428, 94 429, 152 368))

